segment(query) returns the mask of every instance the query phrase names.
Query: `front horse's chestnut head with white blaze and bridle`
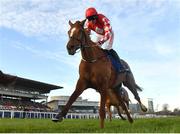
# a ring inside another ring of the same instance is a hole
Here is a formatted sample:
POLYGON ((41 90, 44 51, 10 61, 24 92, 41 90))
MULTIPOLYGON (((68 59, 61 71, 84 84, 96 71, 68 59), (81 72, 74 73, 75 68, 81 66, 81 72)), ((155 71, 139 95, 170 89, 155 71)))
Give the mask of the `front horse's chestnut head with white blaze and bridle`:
POLYGON ((85 44, 85 21, 76 21, 74 24, 69 21, 70 29, 68 31, 69 41, 67 43, 67 51, 70 55, 74 55, 85 44))

